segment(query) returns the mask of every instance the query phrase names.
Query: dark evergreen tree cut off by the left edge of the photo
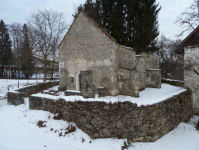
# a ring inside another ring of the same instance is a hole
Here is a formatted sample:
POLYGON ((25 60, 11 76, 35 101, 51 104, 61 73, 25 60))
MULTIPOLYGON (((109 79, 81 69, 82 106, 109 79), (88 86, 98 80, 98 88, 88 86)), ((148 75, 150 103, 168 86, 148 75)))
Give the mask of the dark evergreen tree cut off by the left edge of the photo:
POLYGON ((8 67, 12 65, 11 40, 8 33, 8 28, 3 20, 0 21, 0 77, 7 78, 8 67))

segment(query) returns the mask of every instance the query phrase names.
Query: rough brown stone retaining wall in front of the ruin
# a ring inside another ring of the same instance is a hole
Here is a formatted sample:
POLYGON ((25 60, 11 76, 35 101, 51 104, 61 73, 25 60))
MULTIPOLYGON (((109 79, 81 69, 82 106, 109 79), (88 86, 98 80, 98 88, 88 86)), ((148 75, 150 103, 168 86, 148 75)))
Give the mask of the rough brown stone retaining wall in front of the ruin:
POLYGON ((129 138, 134 142, 153 142, 187 121, 192 115, 189 90, 165 101, 137 107, 131 102, 66 102, 29 98, 30 109, 58 113, 60 119, 75 122, 91 138, 129 138))

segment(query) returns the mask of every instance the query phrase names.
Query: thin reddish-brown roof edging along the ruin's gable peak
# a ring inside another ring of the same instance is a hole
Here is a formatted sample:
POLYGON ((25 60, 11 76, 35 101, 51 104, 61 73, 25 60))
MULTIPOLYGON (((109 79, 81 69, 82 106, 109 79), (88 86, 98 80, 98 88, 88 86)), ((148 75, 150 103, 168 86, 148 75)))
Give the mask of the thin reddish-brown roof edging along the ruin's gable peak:
MULTIPOLYGON (((108 32, 106 32, 102 27, 100 27, 93 19, 91 19, 87 14, 85 14, 84 12, 79 12, 79 14, 82 13, 84 16, 86 16, 95 26, 97 26, 97 28, 99 28, 107 37, 109 37, 111 40, 113 41, 117 41, 116 39, 114 39, 108 32)), ((71 24, 70 28, 68 29, 66 35, 68 34, 68 32, 70 31, 71 27, 73 26, 74 22, 76 21, 76 19, 78 18, 79 14, 77 15, 77 17, 73 20, 73 23, 71 24)), ((58 48, 60 47, 61 43, 64 41, 66 35, 64 36, 64 38, 62 39, 62 41, 60 42, 58 48)))

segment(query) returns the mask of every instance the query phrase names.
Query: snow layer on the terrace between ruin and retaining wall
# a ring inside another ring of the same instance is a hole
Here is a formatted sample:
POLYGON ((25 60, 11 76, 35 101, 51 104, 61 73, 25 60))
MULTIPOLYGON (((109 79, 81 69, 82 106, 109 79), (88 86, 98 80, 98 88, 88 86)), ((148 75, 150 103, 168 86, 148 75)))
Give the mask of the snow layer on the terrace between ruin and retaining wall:
POLYGON ((169 84, 162 84, 161 89, 156 88, 146 88, 145 90, 141 91, 139 93, 140 97, 131 97, 131 96, 124 96, 124 95, 118 95, 118 96, 106 96, 106 97, 98 97, 98 94, 96 94, 95 98, 88 98, 85 99, 82 96, 64 96, 64 93, 60 93, 60 96, 52 96, 48 94, 33 94, 32 96, 35 97, 44 97, 49 98, 53 100, 58 100, 60 98, 65 99, 66 101, 102 101, 102 102, 125 102, 130 101, 132 103, 136 103, 137 106, 141 105, 152 105, 161 101, 164 101, 168 98, 173 97, 174 95, 178 95, 186 89, 181 87, 172 86, 169 84))

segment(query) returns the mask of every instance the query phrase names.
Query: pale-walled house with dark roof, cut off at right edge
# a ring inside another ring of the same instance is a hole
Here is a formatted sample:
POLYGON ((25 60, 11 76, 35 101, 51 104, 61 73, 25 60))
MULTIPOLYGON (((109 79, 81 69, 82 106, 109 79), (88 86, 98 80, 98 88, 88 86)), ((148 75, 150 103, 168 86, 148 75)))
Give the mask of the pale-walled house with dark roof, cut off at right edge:
POLYGON ((184 86, 192 90, 194 114, 199 114, 199 26, 175 51, 184 54, 184 86))

